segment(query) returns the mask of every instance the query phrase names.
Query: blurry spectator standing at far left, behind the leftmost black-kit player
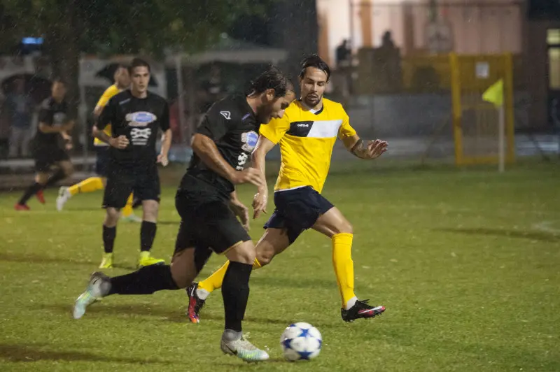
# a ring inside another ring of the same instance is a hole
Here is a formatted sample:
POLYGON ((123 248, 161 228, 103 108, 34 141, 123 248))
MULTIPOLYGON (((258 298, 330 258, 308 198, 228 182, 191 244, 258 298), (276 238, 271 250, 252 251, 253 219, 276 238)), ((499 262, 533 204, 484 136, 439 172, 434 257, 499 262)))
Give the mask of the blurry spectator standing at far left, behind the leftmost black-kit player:
POLYGON ((11 136, 9 157, 27 157, 31 138, 31 115, 33 102, 25 92, 25 80, 14 81, 14 90, 6 96, 6 109, 9 113, 11 136))

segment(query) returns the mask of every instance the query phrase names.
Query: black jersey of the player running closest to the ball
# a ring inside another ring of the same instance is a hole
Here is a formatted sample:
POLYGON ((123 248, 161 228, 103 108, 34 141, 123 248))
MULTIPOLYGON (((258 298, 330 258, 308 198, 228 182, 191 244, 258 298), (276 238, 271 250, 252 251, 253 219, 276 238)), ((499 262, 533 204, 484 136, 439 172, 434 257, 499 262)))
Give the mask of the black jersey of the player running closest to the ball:
MULTIPOLYGON (((237 171, 242 171, 257 144, 259 126, 246 97, 230 96, 209 108, 196 132, 213 139, 225 161, 237 171)), ((196 154, 190 161, 186 176, 204 181, 223 196, 229 196, 234 190, 229 180, 209 169, 196 154)), ((185 183, 186 178, 183 178, 181 187, 185 183)))

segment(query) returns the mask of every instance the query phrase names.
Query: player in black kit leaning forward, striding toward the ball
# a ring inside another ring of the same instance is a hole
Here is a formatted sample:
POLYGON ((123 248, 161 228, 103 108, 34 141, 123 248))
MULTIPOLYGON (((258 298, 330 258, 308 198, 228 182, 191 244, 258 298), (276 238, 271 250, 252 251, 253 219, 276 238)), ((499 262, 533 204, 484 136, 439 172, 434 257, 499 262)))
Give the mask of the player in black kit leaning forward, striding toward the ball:
POLYGON ((241 332, 255 246, 243 225, 248 223, 248 212, 237 199, 235 185, 262 184, 260 171, 244 169, 257 143, 258 127, 272 117, 282 117, 293 99, 293 87, 286 77, 270 69, 255 80, 248 96, 214 103, 193 136, 195 156, 176 194, 181 226, 171 266, 147 266, 115 278, 93 273, 76 300, 73 316, 82 317, 86 307, 102 296, 185 288, 211 252, 216 252, 231 261, 222 287, 225 331, 221 350, 251 362, 268 359, 267 352, 255 348, 241 332))

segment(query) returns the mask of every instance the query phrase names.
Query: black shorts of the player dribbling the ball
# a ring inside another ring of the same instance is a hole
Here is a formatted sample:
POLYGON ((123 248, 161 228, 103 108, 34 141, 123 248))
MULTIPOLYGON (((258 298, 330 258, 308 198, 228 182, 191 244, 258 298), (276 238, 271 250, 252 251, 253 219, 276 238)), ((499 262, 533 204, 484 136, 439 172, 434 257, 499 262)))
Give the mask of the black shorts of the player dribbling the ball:
POLYGON ((175 253, 196 247, 196 254, 204 255, 202 251, 211 250, 221 255, 229 248, 251 240, 227 200, 180 189, 175 196, 175 207, 181 215, 175 253))

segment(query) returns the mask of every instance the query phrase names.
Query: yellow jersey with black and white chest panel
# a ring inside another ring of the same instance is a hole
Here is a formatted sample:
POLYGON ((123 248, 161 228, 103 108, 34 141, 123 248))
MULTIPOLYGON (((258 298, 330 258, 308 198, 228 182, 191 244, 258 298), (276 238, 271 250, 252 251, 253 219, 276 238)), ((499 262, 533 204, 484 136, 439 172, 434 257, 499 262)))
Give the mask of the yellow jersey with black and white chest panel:
POLYGON ((342 105, 323 98, 323 108, 317 112, 293 101, 281 119, 262 124, 260 134, 280 145, 282 160, 274 191, 311 186, 321 192, 337 137, 351 137, 356 131, 342 105))

